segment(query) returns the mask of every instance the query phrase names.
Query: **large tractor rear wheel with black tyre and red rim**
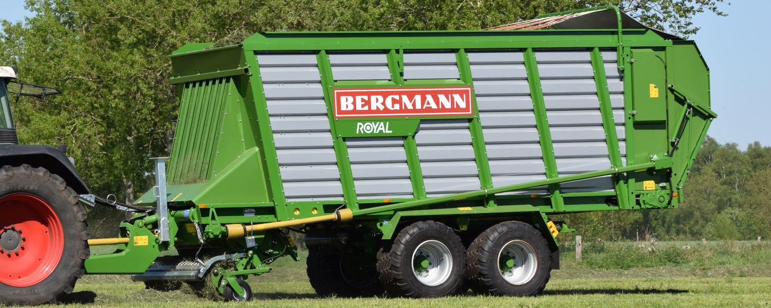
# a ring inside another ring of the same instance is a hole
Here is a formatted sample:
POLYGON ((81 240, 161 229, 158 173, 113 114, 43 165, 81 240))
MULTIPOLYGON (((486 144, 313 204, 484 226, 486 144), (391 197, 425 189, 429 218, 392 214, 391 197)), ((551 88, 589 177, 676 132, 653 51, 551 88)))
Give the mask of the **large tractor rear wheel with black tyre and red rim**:
POLYGON ((89 236, 86 209, 64 179, 29 165, 0 168, 0 303, 57 303, 72 293, 89 236))

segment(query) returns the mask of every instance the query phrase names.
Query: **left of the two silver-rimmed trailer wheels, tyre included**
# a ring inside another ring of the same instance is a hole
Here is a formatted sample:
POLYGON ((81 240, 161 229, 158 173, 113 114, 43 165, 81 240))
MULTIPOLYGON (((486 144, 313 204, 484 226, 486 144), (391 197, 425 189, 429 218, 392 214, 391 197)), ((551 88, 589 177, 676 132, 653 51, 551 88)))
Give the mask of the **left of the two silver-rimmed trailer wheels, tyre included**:
POLYGON ((391 296, 437 297, 463 292, 466 249, 453 229, 432 220, 406 226, 378 254, 380 282, 391 296))

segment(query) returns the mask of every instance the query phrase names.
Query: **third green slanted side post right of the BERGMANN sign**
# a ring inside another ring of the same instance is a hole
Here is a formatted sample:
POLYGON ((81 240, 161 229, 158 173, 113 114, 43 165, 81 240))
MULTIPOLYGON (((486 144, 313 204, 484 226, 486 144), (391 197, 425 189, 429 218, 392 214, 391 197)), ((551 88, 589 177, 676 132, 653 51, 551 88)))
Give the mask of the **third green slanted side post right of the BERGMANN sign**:
MULTIPOLYGON (((598 47, 591 49, 591 67, 594 69, 594 85, 597 86, 597 98, 600 101, 600 115, 602 116, 602 128, 605 131, 605 143, 608 145, 608 156, 611 159, 611 165, 618 168, 624 164, 621 162, 621 149, 618 148, 611 93, 608 90, 608 77, 605 75, 605 65, 602 62, 602 54, 598 47)), ((618 207, 629 209, 628 199, 626 199, 627 186, 623 174, 614 175, 613 182, 618 195, 618 207)))

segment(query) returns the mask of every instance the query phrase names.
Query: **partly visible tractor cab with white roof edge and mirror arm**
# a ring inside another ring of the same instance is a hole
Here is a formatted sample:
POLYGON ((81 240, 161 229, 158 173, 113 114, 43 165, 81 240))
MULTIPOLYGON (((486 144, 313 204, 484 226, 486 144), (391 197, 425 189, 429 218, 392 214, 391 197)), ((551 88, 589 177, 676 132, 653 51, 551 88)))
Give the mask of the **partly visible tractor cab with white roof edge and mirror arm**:
POLYGON ((45 96, 62 93, 59 89, 52 87, 16 82, 13 79, 16 79, 17 71, 18 69, 14 67, 0 66, 0 79, 2 79, 0 82, 0 144, 19 143, 11 113, 12 100, 15 106, 22 96, 32 96, 42 100, 45 96), (15 98, 9 97, 8 94, 15 94, 15 98))

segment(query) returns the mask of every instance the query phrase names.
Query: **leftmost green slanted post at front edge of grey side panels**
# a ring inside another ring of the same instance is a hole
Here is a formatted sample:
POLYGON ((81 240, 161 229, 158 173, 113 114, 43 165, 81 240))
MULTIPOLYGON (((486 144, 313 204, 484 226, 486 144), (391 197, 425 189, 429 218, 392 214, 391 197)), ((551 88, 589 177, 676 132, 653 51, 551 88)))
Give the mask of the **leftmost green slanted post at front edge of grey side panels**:
MULTIPOLYGON (((253 51, 245 51, 244 58, 252 74, 260 74, 260 64, 257 61, 257 54, 253 51)), ((276 210, 276 219, 279 221, 287 220, 287 198, 284 195, 284 183, 281 182, 281 170, 278 169, 278 156, 276 154, 276 145, 273 140, 273 129, 271 129, 271 118, 268 115, 268 102, 265 100, 265 90, 261 78, 250 78, 249 88, 251 93, 251 103, 257 112, 257 126, 260 134, 260 146, 263 168, 268 171, 268 182, 270 183, 270 192, 273 196, 273 203, 276 210)))

